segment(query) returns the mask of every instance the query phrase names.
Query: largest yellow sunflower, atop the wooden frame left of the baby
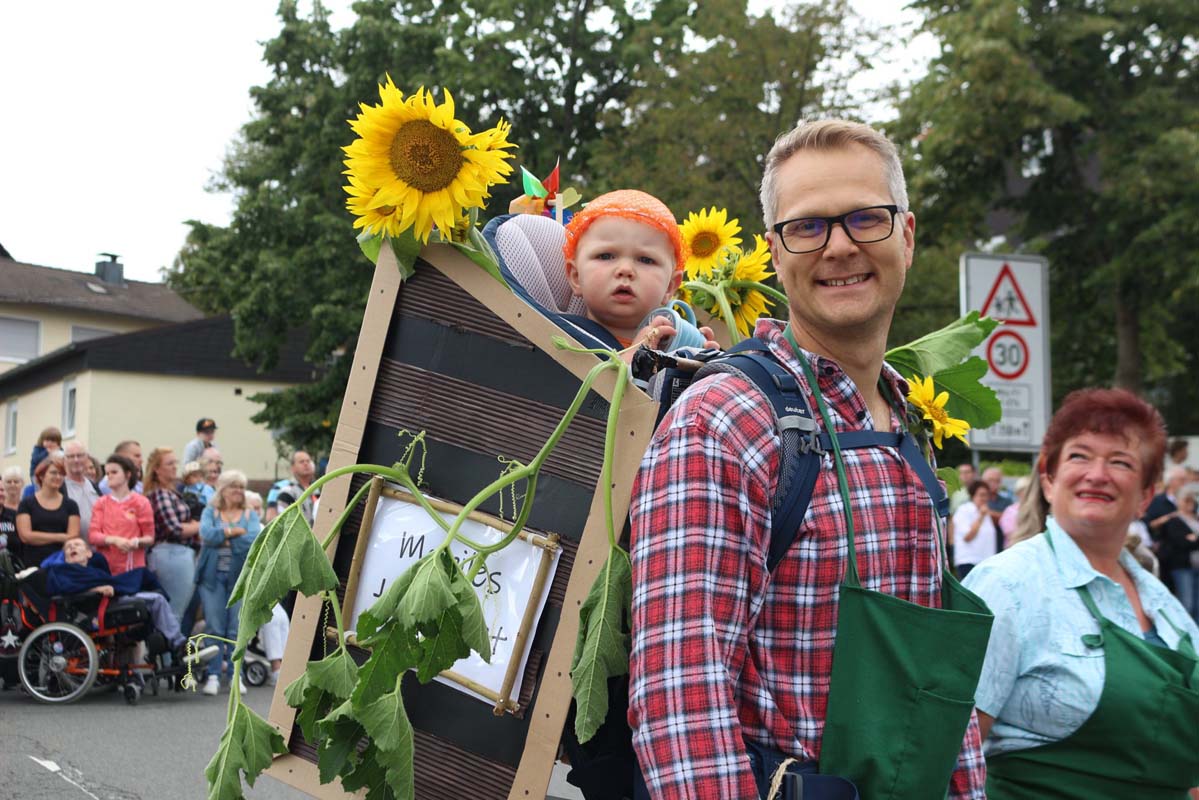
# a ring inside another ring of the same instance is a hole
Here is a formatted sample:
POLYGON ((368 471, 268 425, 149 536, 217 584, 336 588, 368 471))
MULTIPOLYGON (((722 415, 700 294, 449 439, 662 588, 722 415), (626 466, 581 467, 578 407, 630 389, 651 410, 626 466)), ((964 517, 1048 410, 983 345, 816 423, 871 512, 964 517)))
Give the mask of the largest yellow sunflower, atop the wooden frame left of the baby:
POLYGON ((391 236, 414 228, 427 242, 434 225, 453 229, 464 210, 481 207, 488 187, 512 172, 512 154, 506 152, 516 146, 507 140, 511 126, 500 121, 471 133, 454 119, 450 92, 442 96, 439 106, 420 89, 405 100, 388 76, 379 86, 380 104, 360 106, 362 113, 350 121, 359 138, 343 148, 351 196, 347 206, 367 219, 360 227, 391 236))

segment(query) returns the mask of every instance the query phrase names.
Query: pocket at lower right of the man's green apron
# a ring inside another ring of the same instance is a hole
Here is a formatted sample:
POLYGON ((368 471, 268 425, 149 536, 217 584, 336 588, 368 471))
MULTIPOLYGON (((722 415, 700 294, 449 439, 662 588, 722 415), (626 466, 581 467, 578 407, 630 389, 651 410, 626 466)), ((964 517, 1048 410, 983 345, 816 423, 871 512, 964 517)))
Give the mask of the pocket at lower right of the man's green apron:
POLYGON ((903 754, 892 765, 894 783, 886 800, 941 800, 946 796, 971 711, 974 698, 954 700, 916 690, 899 751, 903 754))

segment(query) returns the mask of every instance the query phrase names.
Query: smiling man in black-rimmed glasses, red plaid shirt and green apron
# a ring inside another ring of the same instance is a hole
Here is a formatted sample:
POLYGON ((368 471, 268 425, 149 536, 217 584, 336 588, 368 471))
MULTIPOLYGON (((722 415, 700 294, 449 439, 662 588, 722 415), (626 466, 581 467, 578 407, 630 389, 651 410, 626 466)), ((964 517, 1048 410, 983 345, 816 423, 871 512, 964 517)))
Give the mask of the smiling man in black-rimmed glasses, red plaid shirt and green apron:
POLYGON ((864 125, 800 125, 766 156, 761 204, 790 313, 754 336, 840 451, 821 446, 795 541, 767 569, 770 403, 718 374, 663 419, 629 511, 634 796, 766 796, 795 759, 781 796, 857 796, 848 780, 862 798, 983 798, 971 706, 989 618, 981 602, 941 610, 960 587, 942 599, 939 487, 900 452, 908 385, 884 361, 916 233, 898 155, 864 125))

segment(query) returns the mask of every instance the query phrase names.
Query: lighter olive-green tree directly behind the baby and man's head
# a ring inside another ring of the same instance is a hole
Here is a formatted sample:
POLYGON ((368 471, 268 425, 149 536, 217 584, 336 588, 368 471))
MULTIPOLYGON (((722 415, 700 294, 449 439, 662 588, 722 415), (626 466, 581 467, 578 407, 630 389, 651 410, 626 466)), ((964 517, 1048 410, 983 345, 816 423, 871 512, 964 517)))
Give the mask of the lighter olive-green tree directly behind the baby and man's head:
POLYGON ((848 82, 878 36, 848 0, 760 16, 743 0, 698 4, 687 46, 650 65, 627 106, 608 112, 591 162, 596 190, 645 187, 680 217, 728 207, 747 234, 761 231, 766 151, 803 118, 855 115, 869 97, 851 100, 848 82))

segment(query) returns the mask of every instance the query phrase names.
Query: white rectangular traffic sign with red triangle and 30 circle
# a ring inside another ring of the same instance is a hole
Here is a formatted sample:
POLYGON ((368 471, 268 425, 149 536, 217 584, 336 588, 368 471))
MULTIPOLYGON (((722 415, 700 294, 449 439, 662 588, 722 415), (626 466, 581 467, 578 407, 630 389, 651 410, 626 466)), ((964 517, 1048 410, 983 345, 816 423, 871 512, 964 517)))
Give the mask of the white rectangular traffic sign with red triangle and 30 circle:
POLYGON ((1049 371, 1049 263, 1040 255, 964 253, 962 313, 1001 320, 975 350, 987 361, 982 383, 995 390, 1004 419, 970 432, 980 450, 1036 451, 1053 411, 1049 371))

